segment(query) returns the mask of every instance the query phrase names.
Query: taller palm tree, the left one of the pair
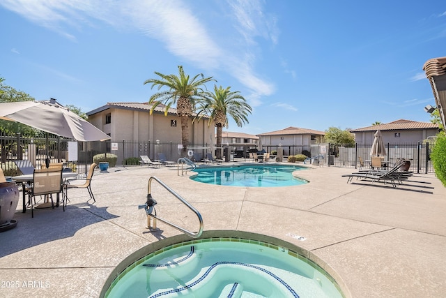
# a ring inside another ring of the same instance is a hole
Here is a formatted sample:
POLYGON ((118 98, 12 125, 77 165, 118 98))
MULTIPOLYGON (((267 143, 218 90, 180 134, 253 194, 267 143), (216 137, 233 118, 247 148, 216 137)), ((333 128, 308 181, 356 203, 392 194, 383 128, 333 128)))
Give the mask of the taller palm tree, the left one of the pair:
POLYGON ((168 88, 167 91, 159 91, 153 94, 150 100, 148 100, 148 104, 152 105, 150 113, 153 113, 157 105, 163 103, 165 105, 164 115, 167 116, 169 108, 176 104, 176 113, 181 120, 181 143, 183 144, 181 156, 185 156, 187 146, 189 145, 189 117, 194 113, 195 104, 199 100, 203 100, 204 84, 213 80, 213 78, 204 77, 201 73, 195 75, 190 80, 189 75, 185 75, 183 66, 178 66, 178 73, 179 75, 163 75, 155 72, 155 75, 158 75, 160 78, 146 80, 144 84, 151 83, 152 89, 155 86, 157 86, 158 90, 162 87, 168 88), (197 79, 198 77, 201 78, 197 79))

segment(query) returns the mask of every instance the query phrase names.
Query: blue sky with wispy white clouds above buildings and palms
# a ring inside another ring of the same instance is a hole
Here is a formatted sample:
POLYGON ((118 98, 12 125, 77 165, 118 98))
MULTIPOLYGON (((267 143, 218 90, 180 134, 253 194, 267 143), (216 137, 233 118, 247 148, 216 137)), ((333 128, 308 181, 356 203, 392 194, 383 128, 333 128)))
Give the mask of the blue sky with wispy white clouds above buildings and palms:
POLYGON ((429 122, 423 65, 446 56, 444 0, 1 0, 0 77, 89 112, 144 103, 157 73, 203 74, 252 106, 249 134, 429 122))

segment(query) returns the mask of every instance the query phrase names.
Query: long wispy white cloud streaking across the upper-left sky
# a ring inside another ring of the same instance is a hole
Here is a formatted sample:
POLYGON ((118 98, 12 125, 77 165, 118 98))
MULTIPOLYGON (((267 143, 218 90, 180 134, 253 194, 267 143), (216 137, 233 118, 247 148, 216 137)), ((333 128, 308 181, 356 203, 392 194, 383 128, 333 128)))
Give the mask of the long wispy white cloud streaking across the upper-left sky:
MULTIPOLYGON (((252 98, 268 96, 275 87, 256 74, 257 55, 261 54, 256 38, 277 43, 277 20, 263 12, 264 1, 228 0, 227 3, 232 13, 227 17, 225 14, 225 22, 218 26, 228 31, 226 34, 232 40, 240 40, 231 45, 220 40, 220 36, 210 35, 206 17, 197 17, 206 12, 188 1, 3 0, 0 5, 73 41, 83 27, 99 26, 98 21, 118 31, 139 31, 160 40, 182 60, 206 70, 226 71, 252 92, 252 98)), ((261 104, 261 100, 254 102, 261 104)))

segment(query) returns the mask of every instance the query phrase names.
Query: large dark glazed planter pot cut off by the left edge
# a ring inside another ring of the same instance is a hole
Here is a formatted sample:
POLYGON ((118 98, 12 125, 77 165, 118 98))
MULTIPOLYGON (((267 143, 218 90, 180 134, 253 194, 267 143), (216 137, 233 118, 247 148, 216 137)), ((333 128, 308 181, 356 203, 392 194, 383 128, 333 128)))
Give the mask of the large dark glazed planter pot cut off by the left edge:
POLYGON ((0 183, 0 232, 15 228, 17 225, 13 217, 19 199, 20 192, 15 181, 0 183))

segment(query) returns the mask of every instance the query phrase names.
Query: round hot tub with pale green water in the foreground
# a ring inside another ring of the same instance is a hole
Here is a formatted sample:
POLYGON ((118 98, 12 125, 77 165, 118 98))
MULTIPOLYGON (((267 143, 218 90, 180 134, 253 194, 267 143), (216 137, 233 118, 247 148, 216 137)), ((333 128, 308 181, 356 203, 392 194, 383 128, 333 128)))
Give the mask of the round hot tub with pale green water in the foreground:
POLYGON ((152 251, 117 274, 101 297, 344 297, 298 249, 230 234, 152 251))

